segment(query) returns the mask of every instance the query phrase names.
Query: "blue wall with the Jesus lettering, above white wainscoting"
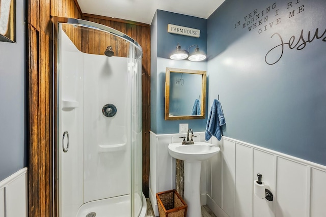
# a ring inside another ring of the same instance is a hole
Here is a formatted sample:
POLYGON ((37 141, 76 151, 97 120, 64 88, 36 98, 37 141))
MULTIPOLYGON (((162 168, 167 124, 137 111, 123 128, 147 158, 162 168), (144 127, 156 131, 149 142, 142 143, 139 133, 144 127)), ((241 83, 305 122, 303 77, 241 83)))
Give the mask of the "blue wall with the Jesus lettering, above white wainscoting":
POLYGON ((227 0, 208 18, 225 136, 326 165, 325 20, 324 0, 227 0))

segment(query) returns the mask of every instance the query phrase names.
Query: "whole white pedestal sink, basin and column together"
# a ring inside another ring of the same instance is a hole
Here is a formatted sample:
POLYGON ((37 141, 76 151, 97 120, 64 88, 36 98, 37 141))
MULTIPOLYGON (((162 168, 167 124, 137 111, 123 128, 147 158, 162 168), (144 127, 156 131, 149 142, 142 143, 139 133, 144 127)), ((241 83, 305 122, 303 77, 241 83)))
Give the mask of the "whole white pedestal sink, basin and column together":
POLYGON ((201 217, 200 206, 200 169, 205 161, 218 153, 220 148, 206 142, 182 145, 169 144, 169 153, 173 158, 184 161, 184 200, 188 205, 187 217, 201 217))

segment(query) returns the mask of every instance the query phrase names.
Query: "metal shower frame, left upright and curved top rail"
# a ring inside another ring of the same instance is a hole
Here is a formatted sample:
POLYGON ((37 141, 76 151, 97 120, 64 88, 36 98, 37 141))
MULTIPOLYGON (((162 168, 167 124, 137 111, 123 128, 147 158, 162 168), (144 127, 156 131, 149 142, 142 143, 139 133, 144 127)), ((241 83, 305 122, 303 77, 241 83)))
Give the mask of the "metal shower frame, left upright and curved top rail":
MULTIPOLYGON (((53 16, 52 17, 52 23, 53 23, 53 43, 52 43, 52 49, 53 49, 53 59, 52 59, 52 69, 53 69, 53 74, 52 74, 52 93, 51 96, 52 98, 50 99, 50 103, 52 104, 52 198, 51 200, 53 201, 53 216, 58 216, 59 215, 59 183, 58 183, 58 168, 59 168, 59 162, 58 162, 58 33, 59 33, 59 24, 64 23, 64 24, 76 24, 82 27, 91 27, 97 30, 101 30, 103 32, 107 32, 108 34, 115 35, 119 38, 122 38, 130 43, 133 43, 136 47, 138 47, 139 51, 141 52, 141 57, 143 56, 143 49, 140 46, 140 44, 130 38, 129 36, 119 32, 118 30, 98 24, 95 22, 87 21, 87 20, 82 20, 82 19, 75 19, 75 18, 67 18, 67 17, 57 17, 53 16), (90 25, 92 24, 92 25, 90 25)), ((132 177, 131 177, 132 179, 132 177)), ((131 189, 132 191, 132 189, 131 189)), ((130 193, 131 194, 131 193, 130 193)), ((131 203, 130 199, 130 203, 131 203)), ((131 210, 131 207, 130 207, 131 210)), ((59 216, 58 216, 59 217, 59 216)))

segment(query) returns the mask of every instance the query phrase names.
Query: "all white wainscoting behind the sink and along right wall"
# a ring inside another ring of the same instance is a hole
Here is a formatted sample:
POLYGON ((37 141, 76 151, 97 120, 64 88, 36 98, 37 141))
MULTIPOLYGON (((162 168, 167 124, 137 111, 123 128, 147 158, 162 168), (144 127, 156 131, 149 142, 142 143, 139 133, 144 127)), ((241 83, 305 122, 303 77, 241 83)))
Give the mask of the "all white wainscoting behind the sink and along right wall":
MULTIPOLYGON (((175 160, 168 144, 184 135, 151 132, 150 200, 156 216, 155 194, 175 188, 175 160)), ((204 132, 195 135, 196 141, 205 141, 204 132)), ((200 193, 202 204, 207 203, 216 216, 326 216, 326 166, 224 136, 222 142, 215 138, 208 142, 221 151, 203 162, 200 193), (274 201, 254 195, 257 173, 263 175, 274 201)))

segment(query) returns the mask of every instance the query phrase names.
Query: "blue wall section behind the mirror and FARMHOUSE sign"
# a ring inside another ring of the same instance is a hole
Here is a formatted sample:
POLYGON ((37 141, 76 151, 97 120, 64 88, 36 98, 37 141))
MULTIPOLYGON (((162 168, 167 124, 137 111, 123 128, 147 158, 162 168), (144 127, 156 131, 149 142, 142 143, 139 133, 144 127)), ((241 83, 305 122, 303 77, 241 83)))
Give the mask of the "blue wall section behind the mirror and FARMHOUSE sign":
POLYGON ((151 131, 156 134, 179 133, 179 123, 189 123, 189 128, 197 132, 205 131, 207 114, 205 119, 164 119, 166 67, 207 71, 207 61, 170 59, 178 42, 181 49, 197 44, 201 51, 207 53, 207 20, 157 10, 151 23, 151 131), (168 33, 168 24, 200 29, 200 38, 168 33))

